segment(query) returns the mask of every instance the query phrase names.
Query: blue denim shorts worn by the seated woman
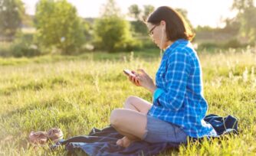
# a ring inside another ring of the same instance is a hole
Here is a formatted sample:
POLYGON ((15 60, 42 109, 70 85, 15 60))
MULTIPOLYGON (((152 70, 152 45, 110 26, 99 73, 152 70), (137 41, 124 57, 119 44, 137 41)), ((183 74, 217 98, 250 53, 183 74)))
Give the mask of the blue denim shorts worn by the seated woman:
POLYGON ((186 135, 178 125, 162 121, 161 119, 149 115, 147 115, 146 119, 146 133, 143 136, 143 140, 151 143, 186 143, 188 135, 186 135))

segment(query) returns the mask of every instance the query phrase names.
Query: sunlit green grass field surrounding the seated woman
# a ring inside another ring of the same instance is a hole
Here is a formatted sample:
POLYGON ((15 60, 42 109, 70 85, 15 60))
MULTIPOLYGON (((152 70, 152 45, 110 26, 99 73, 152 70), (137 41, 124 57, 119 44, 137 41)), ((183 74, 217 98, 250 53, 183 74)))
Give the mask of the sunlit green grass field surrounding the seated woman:
MULTIPOLYGON (((208 113, 235 115, 240 133, 162 155, 255 155, 256 50, 199 57, 208 113)), ((143 68, 155 79, 159 63, 159 50, 0 59, 0 155, 65 154, 64 149, 34 151, 29 132, 59 127, 69 138, 109 125, 111 110, 123 107, 128 96, 152 101, 146 89, 131 85, 123 69, 143 68)))

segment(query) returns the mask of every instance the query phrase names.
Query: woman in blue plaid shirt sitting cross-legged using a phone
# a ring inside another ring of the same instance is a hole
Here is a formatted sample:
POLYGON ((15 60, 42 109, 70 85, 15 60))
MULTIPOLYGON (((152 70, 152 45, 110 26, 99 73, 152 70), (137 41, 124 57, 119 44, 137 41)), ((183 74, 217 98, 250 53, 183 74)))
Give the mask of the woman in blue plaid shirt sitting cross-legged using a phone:
POLYGON ((170 141, 185 143, 187 137, 216 135, 203 118, 208 104, 203 97, 202 72, 192 44, 193 34, 182 16, 163 6, 146 21, 149 35, 162 50, 156 73, 156 85, 142 69, 129 76, 136 86, 153 93, 153 104, 136 96, 126 99, 124 109, 114 109, 110 123, 124 135, 117 145, 127 147, 132 141, 170 141))

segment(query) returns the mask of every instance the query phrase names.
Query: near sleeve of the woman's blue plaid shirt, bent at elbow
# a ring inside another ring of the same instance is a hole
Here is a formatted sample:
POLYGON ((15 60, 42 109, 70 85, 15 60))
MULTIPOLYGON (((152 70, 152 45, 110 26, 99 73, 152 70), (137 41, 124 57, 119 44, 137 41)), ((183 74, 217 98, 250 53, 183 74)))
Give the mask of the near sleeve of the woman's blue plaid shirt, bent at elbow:
POLYGON ((155 99, 156 105, 174 111, 178 111, 182 107, 190 68, 189 55, 185 53, 184 49, 170 54, 167 60, 167 86, 165 91, 155 99))

